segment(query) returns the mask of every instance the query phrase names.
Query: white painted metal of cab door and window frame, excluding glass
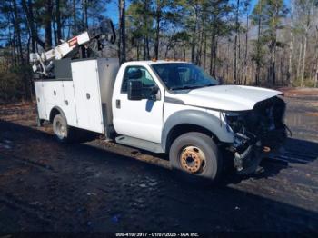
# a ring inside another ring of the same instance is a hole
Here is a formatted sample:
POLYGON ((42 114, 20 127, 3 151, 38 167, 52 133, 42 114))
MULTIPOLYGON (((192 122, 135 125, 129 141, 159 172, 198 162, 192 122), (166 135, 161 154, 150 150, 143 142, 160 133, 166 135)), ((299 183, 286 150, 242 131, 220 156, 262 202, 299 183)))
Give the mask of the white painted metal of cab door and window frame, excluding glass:
POLYGON ((160 143, 163 128, 164 111, 164 87, 158 81, 156 75, 148 64, 144 62, 129 62, 122 65, 114 84, 113 94, 113 124, 118 134, 132 136, 146 141, 160 143), (143 99, 140 101, 128 100, 126 93, 121 93, 124 70, 126 66, 144 66, 158 85, 161 99, 151 101, 143 99), (116 108, 116 100, 120 100, 121 107, 116 108))

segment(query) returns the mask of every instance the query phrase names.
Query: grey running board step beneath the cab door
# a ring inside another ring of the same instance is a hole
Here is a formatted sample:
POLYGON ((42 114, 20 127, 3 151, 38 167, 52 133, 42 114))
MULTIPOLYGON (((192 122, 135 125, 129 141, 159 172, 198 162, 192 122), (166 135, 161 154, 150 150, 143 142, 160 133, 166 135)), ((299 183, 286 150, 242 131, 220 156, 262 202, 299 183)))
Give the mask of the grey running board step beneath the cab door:
POLYGON ((150 151, 154 153, 164 153, 161 144, 144 141, 130 136, 120 135, 115 138, 115 141, 118 144, 125 144, 131 147, 143 149, 145 151, 150 151))

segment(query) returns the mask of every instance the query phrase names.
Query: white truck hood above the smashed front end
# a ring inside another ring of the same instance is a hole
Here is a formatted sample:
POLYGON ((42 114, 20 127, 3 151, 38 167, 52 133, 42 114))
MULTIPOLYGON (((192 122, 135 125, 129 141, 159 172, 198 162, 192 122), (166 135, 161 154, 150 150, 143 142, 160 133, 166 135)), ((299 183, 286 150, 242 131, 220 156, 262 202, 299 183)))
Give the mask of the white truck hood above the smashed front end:
POLYGON ((168 97, 175 102, 187 105, 235 112, 252 110, 258 102, 279 94, 282 94, 282 92, 260 87, 215 85, 170 94, 168 97))

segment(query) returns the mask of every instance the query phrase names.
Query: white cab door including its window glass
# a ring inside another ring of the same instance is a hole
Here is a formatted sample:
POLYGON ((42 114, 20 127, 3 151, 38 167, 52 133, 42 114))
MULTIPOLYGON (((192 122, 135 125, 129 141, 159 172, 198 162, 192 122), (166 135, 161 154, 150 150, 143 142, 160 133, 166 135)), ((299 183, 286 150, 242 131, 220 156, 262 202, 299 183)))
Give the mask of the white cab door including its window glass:
MULTIPOLYGON (((139 101, 128 100, 127 85, 129 80, 140 80, 142 82, 144 97, 148 97, 151 87, 158 86, 154 77, 149 74, 144 66, 127 66, 124 71, 121 93, 115 98, 113 108, 114 128, 118 134, 160 143, 164 97, 161 96, 160 99, 157 97, 157 100, 149 98, 139 101), (139 73, 141 71, 141 74, 134 74, 136 71, 139 73)), ((161 94, 160 89, 157 94, 161 94)))

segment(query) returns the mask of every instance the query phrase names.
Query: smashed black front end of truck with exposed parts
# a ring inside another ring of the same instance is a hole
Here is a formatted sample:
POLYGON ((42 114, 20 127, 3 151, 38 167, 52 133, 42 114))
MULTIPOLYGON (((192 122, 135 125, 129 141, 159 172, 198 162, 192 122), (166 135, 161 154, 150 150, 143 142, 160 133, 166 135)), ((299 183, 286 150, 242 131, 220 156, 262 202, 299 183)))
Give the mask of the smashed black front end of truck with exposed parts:
POLYGON ((273 97, 255 104, 251 111, 225 114, 227 130, 234 133, 234 143, 227 150, 234 154, 239 174, 253 174, 265 154, 283 145, 287 137, 285 107, 283 99, 273 97))

